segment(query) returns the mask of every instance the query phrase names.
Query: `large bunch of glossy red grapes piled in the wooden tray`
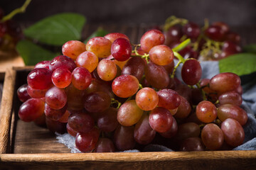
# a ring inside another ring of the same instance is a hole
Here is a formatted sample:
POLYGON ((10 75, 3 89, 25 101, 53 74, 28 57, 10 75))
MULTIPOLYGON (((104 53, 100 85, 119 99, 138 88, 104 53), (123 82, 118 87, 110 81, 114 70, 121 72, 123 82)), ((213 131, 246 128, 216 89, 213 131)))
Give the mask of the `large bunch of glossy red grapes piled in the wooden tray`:
POLYGON ((18 89, 21 120, 46 122, 75 137, 81 152, 114 152, 149 145, 157 136, 178 149, 241 145, 247 113, 240 108, 240 77, 220 73, 201 79, 198 60, 171 49, 161 31, 149 30, 139 45, 110 33, 87 44, 70 40, 63 55, 36 64, 18 89), (174 66, 174 56, 179 62, 174 66), (175 77, 183 63, 183 82, 175 77))

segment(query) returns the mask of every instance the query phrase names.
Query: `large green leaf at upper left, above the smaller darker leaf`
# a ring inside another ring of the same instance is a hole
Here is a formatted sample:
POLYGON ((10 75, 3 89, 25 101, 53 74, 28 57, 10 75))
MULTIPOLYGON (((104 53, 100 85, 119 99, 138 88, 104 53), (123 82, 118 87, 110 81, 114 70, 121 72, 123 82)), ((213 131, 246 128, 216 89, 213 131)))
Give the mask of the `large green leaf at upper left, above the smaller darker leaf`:
POLYGON ((60 13, 44 18, 24 30, 28 38, 48 45, 63 45, 69 40, 80 40, 85 17, 77 13, 60 13))

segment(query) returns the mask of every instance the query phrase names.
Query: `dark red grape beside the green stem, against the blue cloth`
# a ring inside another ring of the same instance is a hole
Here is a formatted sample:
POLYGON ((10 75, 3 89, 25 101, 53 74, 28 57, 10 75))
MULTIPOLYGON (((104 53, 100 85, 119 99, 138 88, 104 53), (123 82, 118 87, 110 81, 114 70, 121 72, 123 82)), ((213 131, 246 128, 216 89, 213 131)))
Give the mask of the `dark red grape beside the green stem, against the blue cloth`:
POLYGON ((186 60, 181 69, 181 77, 188 85, 195 85, 202 76, 202 68, 197 60, 186 60))

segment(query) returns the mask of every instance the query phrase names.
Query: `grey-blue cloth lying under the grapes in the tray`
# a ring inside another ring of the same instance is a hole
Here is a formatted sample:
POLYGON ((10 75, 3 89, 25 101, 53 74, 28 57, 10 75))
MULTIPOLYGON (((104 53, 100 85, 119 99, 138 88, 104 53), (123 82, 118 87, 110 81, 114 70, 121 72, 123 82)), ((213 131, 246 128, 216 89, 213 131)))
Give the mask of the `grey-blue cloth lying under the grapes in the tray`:
MULTIPOLYGON (((177 63, 177 61, 175 61, 177 63)), ((178 79, 181 79, 181 67, 178 67, 176 70, 176 76, 178 79)), ((202 67, 202 79, 210 79, 219 73, 218 61, 212 62, 201 62, 202 67)), ((243 126, 245 131, 245 141, 242 145, 235 147, 233 150, 256 150, 256 84, 253 84, 255 79, 247 84, 242 85, 243 94, 242 94, 242 108, 248 114, 247 123, 243 126)), ((78 149, 75 148, 75 137, 71 137, 68 134, 60 135, 57 134, 57 140, 60 143, 63 143, 68 148, 71 149, 72 153, 79 152, 78 149)), ((142 152, 172 152, 172 149, 168 147, 164 147, 161 145, 147 145, 142 149, 142 152)), ((137 149, 127 150, 124 152, 140 152, 137 149)))

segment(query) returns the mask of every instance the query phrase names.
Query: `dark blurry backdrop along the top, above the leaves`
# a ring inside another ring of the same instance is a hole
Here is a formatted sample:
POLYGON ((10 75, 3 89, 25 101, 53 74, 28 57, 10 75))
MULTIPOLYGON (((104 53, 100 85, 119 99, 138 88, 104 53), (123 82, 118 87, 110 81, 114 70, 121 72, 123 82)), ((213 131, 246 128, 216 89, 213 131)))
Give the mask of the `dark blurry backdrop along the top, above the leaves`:
MULTIPOLYGON (((18 8, 25 0, 1 0, 6 13, 18 8)), ((171 15, 203 24, 224 21, 230 26, 256 25, 255 0, 33 0, 26 13, 18 14, 20 23, 34 23, 61 12, 85 15, 87 23, 159 23, 171 15)))

